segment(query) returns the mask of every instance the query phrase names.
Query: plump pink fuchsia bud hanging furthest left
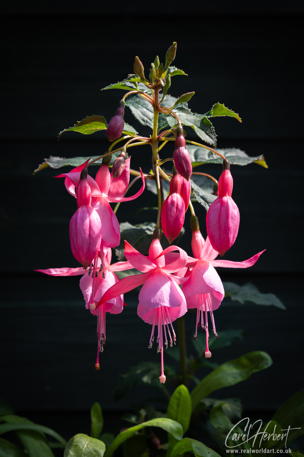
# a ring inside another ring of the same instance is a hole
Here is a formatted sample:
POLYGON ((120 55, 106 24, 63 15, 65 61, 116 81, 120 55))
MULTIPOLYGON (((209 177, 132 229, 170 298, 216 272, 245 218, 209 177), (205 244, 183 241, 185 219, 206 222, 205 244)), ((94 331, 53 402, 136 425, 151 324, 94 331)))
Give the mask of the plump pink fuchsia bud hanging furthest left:
POLYGON ((101 243, 101 221, 91 207, 91 188, 87 176, 88 170, 84 168, 76 189, 78 209, 70 222, 72 254, 85 269, 98 253, 101 243))

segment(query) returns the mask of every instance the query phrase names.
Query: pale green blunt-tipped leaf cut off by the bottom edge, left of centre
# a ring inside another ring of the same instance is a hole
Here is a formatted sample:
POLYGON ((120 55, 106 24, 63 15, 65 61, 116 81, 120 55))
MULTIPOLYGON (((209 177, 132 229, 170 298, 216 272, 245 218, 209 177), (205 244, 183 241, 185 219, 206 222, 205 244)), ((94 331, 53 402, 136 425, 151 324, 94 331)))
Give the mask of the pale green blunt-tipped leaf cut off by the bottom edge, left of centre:
POLYGON ((67 443, 64 457, 103 457, 105 450, 103 441, 78 433, 67 443))

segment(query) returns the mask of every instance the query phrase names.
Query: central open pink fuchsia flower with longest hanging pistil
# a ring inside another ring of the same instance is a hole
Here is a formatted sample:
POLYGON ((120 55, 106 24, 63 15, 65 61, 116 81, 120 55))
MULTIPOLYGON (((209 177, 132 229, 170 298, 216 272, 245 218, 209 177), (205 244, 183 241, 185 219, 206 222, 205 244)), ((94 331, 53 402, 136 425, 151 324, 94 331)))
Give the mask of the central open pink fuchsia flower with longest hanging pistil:
POLYGON ((152 324, 152 333, 149 341, 149 348, 152 347, 154 341, 155 325, 158 327, 157 352, 161 353, 161 375, 160 383, 165 383, 164 362, 163 362, 163 326, 165 333, 165 346, 168 347, 168 338, 165 326, 172 346, 173 340, 175 341, 175 333, 172 322, 175 319, 183 316, 186 312, 186 302, 183 292, 178 287, 187 280, 187 278, 180 278, 172 275, 173 271, 180 270, 186 263, 188 256, 184 250, 178 246, 169 246, 162 250, 160 245, 160 229, 156 228, 153 234, 153 240, 149 249, 149 257, 145 257, 134 249, 127 241, 125 241, 124 255, 134 268, 142 271, 143 274, 128 276, 121 279, 118 283, 114 284, 103 295, 98 303, 98 307, 102 303, 117 297, 119 294, 129 292, 135 287, 141 286, 139 292, 139 305, 137 314, 144 322, 152 324), (179 251, 178 258, 165 265, 165 255, 173 250, 179 251), (172 330, 172 335, 170 328, 172 330))

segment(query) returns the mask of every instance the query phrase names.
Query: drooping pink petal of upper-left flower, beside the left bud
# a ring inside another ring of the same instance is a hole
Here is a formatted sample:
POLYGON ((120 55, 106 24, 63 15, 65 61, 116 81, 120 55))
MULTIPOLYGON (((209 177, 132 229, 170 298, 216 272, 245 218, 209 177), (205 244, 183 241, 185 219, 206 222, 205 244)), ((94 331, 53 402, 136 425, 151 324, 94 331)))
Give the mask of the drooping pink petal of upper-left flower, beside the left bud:
POLYGON ((103 230, 103 244, 107 248, 113 248, 120 243, 120 228, 117 217, 110 207, 106 197, 100 197, 94 203, 93 208, 98 213, 103 230))

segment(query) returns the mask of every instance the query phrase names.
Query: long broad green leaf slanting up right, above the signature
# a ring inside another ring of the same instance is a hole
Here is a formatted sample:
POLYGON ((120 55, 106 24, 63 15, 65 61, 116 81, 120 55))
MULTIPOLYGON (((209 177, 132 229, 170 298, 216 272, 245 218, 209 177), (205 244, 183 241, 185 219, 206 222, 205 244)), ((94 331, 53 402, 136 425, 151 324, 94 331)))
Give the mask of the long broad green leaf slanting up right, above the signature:
POLYGON ((192 409, 197 406, 202 398, 214 390, 245 381, 252 373, 264 370, 270 367, 271 364, 271 357, 263 351, 249 352, 238 359, 223 363, 204 377, 192 390, 192 409))

